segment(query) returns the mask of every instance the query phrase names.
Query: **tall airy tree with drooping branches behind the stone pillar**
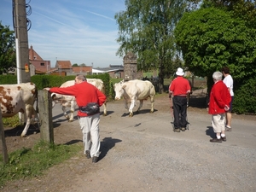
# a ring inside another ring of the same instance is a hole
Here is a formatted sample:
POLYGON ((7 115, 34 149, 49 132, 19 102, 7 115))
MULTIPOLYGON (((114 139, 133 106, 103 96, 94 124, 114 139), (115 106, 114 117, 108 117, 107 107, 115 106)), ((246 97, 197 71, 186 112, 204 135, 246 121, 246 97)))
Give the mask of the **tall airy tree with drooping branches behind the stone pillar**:
POLYGON ((120 47, 117 55, 131 51, 137 55, 137 69, 159 71, 160 93, 165 73, 172 73, 177 55, 174 26, 186 8, 187 1, 126 0, 126 10, 115 15, 119 26, 120 47))

